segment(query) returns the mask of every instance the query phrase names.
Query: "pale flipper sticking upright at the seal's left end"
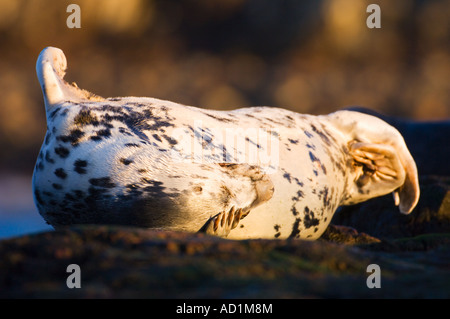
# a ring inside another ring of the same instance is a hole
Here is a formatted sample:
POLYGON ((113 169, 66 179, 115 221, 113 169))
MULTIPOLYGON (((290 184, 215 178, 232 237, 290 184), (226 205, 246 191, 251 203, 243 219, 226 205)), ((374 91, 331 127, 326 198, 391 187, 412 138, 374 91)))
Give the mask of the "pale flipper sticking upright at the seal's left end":
POLYGON ((69 84, 64 81, 66 69, 67 60, 61 49, 47 47, 39 54, 36 73, 44 94, 47 111, 52 105, 64 101, 104 100, 86 90, 79 89, 75 83, 69 84))

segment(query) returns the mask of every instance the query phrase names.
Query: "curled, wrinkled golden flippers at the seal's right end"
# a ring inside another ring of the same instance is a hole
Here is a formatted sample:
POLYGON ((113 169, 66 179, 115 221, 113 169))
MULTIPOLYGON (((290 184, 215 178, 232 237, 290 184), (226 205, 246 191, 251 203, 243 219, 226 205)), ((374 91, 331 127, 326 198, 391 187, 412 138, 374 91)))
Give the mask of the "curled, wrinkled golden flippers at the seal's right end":
POLYGON ((355 204, 394 192, 395 204, 409 214, 420 196, 417 167, 401 134, 383 120, 354 111, 329 115, 348 140, 355 183, 343 204, 355 204))

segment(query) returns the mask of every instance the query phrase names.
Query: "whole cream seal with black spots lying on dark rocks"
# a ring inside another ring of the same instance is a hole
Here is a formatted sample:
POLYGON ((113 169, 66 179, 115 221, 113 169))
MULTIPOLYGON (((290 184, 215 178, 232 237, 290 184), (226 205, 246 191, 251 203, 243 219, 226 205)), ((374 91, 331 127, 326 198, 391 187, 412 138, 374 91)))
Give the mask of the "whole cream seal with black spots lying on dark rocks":
POLYGON ((47 133, 34 199, 55 227, 126 224, 229 238, 316 239, 340 205, 389 192, 404 213, 417 203, 417 171, 403 139, 369 115, 214 111, 154 98, 102 98, 64 81, 66 59, 56 48, 44 49, 36 68, 47 133), (276 161, 240 160, 248 150, 269 152, 250 134, 241 145, 224 142, 226 129, 242 128, 267 132, 276 161))

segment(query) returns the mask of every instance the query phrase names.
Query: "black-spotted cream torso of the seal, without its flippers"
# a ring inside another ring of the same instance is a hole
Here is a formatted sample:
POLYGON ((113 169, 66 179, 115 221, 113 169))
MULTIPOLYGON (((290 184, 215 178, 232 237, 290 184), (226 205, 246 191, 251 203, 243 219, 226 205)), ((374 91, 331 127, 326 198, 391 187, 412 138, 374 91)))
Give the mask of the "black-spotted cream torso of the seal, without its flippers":
MULTIPOLYGON (((246 163, 269 176, 275 193, 230 236, 316 238, 343 189, 345 154, 339 145, 314 117, 285 110, 227 114, 168 103, 136 111, 86 103, 53 115, 35 168, 34 194, 40 213, 55 225, 197 231, 231 205, 221 206, 219 199, 223 180, 233 176, 211 165, 246 163), (158 116, 138 125, 138 115, 146 112, 158 116), (281 125, 286 119, 291 123, 281 125)), ((242 185, 236 179, 229 187, 236 205, 246 200, 242 185)))

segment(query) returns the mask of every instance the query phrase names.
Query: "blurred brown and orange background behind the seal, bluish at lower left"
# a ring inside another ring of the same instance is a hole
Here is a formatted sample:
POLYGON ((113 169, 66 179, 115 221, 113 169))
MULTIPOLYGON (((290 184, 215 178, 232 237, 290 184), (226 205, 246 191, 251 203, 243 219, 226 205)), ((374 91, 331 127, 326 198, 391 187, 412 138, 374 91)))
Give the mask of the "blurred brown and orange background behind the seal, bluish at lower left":
POLYGON ((50 229, 31 175, 46 122, 35 62, 61 48, 66 80, 104 97, 323 114, 361 105, 450 116, 446 0, 0 0, 0 238, 50 229), (69 4, 81 28, 69 29, 69 4), (369 29, 369 4, 381 29, 369 29))

